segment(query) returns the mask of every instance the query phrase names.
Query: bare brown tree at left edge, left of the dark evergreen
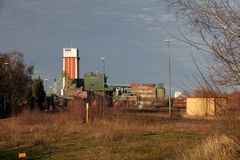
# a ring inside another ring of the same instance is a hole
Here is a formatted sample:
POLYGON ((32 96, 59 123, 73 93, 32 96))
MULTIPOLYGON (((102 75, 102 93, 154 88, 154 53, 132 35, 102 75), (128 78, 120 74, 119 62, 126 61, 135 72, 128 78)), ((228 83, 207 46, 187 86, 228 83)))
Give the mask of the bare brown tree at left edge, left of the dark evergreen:
POLYGON ((27 97, 32 71, 32 66, 24 64, 22 53, 0 53, 0 94, 6 97, 10 113, 17 111, 27 97))

